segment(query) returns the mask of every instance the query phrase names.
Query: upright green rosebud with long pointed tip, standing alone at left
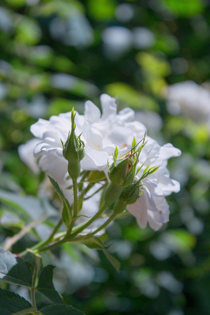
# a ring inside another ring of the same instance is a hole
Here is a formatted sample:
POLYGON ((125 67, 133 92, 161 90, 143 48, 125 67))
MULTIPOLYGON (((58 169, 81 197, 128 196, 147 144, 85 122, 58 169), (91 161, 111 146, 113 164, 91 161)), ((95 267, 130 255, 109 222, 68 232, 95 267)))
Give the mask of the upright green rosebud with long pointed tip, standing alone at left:
POLYGON ((85 156, 84 142, 80 139, 81 134, 75 134, 75 113, 74 108, 71 111, 71 130, 69 131, 68 138, 63 144, 63 157, 68 161, 68 174, 72 179, 77 179, 80 175, 81 166, 80 161, 85 156))

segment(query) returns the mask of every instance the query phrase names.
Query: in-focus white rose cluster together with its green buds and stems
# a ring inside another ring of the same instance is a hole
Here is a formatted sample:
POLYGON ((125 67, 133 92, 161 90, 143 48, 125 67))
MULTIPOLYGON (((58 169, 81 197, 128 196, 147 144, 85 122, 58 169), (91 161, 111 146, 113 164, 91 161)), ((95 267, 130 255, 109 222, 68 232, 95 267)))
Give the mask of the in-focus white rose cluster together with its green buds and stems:
POLYGON ((104 94, 100 99, 102 114, 87 101, 84 115, 72 109, 31 126, 34 158, 60 195, 66 227, 33 247, 36 251, 103 233, 125 210, 141 228, 149 223, 157 230, 169 220, 165 197, 178 192, 180 184, 170 178, 167 161, 180 150, 146 135, 133 110, 117 113, 114 98, 104 94))

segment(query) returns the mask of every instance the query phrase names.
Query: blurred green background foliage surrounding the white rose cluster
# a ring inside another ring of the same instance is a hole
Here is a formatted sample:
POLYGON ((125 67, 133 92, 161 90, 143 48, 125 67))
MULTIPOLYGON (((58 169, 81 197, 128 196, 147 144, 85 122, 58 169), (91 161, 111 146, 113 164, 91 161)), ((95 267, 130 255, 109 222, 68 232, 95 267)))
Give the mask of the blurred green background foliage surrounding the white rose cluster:
MULTIPOLYGON (((109 228, 119 273, 102 253, 63 248, 72 264, 93 270, 89 282, 76 286, 72 274, 60 288, 87 315, 209 314, 210 134, 203 123, 170 114, 163 93, 180 81, 210 82, 209 43, 205 0, 1 1, 1 189, 36 195, 43 174, 34 175, 17 152, 31 138, 30 125, 72 106, 82 113, 84 102, 99 105, 102 93, 117 97, 119 109, 158 113, 163 127, 156 138, 182 151, 169 164, 181 182, 180 193, 168 197, 169 223, 153 232, 130 218, 109 228)), ((2 222, 0 240, 22 225, 2 222)), ((24 237, 13 252, 30 243, 24 237)), ((61 252, 55 256, 61 264, 61 252)))

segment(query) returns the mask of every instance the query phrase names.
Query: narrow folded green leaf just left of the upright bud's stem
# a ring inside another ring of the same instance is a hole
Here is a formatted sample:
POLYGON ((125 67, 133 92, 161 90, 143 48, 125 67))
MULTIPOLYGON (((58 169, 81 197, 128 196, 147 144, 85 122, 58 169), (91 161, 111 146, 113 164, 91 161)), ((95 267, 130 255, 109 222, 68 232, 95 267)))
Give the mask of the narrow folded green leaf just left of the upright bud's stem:
POLYGON ((68 200, 64 196, 62 190, 60 189, 59 184, 52 177, 50 176, 48 177, 51 181, 51 184, 56 189, 57 193, 59 194, 60 199, 63 202, 62 218, 63 218, 66 228, 68 229, 72 221, 72 207, 70 206, 68 200))

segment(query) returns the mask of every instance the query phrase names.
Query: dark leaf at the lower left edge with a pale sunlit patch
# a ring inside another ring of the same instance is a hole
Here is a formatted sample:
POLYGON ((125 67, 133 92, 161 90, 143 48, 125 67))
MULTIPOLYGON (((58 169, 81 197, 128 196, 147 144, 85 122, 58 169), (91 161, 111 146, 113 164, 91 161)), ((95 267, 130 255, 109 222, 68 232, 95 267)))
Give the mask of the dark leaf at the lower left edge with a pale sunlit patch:
POLYGON ((32 273, 22 258, 0 249, 0 279, 7 283, 31 286, 32 273))

